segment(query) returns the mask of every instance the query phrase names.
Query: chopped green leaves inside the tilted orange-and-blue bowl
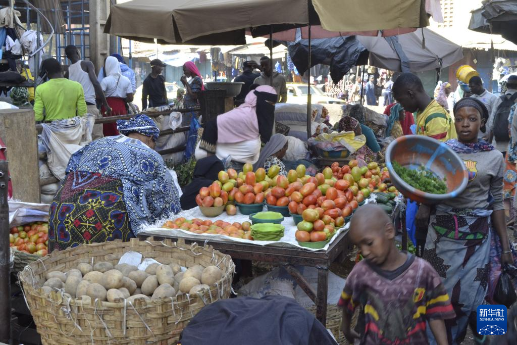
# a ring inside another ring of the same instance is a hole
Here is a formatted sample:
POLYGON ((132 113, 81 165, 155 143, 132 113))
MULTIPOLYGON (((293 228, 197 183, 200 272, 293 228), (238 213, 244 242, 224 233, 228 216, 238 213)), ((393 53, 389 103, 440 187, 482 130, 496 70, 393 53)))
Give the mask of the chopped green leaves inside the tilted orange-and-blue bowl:
POLYGON ((431 194, 447 193, 446 179, 439 179, 424 166, 420 166, 418 169, 408 169, 402 167, 398 162, 393 162, 393 169, 404 182, 418 190, 431 194))

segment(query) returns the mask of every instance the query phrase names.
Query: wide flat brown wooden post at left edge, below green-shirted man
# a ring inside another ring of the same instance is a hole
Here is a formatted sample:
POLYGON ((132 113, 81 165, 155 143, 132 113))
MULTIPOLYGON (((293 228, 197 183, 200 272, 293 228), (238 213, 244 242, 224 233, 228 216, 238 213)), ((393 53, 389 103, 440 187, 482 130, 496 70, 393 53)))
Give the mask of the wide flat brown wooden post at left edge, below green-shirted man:
POLYGON ((39 203, 38 142, 34 111, 2 110, 0 138, 7 146, 13 199, 39 203))

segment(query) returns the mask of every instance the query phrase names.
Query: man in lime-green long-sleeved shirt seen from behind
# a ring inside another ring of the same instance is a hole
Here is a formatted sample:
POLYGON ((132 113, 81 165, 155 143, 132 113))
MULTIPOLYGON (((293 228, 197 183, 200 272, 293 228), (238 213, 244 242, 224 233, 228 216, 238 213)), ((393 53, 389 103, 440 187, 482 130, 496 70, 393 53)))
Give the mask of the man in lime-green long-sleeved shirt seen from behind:
POLYGON ((50 122, 86 114, 86 102, 81 84, 65 79, 61 65, 55 58, 43 61, 43 68, 47 71, 49 81, 36 88, 34 95, 36 121, 50 122))

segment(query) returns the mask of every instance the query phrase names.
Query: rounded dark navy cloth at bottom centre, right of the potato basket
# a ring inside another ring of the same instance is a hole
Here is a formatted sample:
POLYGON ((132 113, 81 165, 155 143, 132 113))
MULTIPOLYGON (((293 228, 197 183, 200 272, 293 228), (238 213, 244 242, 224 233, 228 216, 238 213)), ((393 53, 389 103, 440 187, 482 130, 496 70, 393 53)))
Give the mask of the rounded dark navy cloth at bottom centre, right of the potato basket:
POLYGON ((336 345, 325 326, 295 299, 220 299, 189 322, 181 345, 336 345))

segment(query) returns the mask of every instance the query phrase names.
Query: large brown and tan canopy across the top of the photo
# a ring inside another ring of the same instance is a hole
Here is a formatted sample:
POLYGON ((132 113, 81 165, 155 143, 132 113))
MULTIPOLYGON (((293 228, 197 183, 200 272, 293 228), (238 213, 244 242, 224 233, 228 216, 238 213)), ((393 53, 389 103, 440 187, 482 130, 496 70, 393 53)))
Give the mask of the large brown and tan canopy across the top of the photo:
POLYGON ((429 25, 426 8, 437 0, 133 0, 111 7, 104 32, 158 43, 245 44, 253 36, 321 25, 338 32, 429 25), (334 13, 339 13, 336 18, 334 13))

